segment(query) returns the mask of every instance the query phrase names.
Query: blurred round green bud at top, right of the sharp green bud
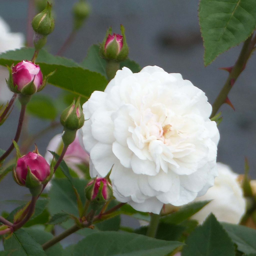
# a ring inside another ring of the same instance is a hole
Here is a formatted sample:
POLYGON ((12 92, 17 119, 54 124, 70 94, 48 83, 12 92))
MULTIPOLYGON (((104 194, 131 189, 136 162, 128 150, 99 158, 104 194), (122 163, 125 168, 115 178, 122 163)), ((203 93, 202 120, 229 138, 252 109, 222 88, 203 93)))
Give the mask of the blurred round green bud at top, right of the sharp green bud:
POLYGON ((79 29, 90 14, 91 7, 85 0, 73 6, 74 29, 79 29))

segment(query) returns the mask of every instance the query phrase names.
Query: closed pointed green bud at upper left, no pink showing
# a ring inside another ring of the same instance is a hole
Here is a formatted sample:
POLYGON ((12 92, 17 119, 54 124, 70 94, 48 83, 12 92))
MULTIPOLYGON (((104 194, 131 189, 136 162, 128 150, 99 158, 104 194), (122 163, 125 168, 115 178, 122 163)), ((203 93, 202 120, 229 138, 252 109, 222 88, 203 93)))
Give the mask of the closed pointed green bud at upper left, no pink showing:
POLYGON ((47 2, 46 8, 32 20, 32 27, 37 34, 49 35, 54 30, 54 18, 51 15, 52 5, 47 2))

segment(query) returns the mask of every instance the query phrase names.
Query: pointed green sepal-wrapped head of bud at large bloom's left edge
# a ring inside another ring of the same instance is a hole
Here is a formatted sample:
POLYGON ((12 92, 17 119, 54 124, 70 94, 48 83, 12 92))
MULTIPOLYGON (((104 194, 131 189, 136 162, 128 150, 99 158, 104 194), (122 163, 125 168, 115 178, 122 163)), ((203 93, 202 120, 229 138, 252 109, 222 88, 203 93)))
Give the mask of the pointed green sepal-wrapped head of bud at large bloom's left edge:
POLYGON ((78 98, 77 102, 74 100, 72 104, 62 112, 60 122, 64 130, 78 130, 83 126, 84 115, 80 106, 80 98, 78 98))

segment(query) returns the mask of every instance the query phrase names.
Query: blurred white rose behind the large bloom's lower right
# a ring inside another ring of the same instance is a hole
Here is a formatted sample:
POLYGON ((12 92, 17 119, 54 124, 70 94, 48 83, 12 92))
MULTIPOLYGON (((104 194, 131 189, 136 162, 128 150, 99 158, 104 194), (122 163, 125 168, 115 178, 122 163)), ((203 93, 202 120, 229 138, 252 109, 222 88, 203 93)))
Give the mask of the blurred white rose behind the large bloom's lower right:
POLYGON ((215 178, 214 186, 204 196, 195 199, 212 201, 193 215, 192 219, 201 224, 212 212, 218 221, 238 224, 246 211, 246 200, 238 182, 238 174, 222 163, 217 163, 217 168, 219 175, 215 178))

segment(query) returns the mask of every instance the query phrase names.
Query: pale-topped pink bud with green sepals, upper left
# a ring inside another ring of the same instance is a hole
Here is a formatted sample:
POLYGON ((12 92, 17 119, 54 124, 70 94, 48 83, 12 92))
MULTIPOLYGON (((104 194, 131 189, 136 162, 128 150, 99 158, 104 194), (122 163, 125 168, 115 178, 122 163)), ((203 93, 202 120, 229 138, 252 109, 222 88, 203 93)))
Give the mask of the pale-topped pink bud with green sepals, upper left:
POLYGON ((9 72, 7 84, 12 92, 32 95, 41 89, 43 75, 39 65, 23 60, 16 66, 9 68, 9 72))

